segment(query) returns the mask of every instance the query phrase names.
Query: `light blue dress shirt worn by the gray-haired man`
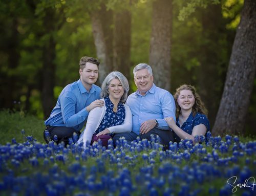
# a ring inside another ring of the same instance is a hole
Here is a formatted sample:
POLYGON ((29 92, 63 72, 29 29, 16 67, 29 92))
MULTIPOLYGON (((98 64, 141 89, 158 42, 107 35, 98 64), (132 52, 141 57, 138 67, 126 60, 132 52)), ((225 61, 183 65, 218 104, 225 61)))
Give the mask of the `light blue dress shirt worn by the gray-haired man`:
POLYGON ((159 123, 158 128, 169 129, 164 118, 175 117, 175 101, 172 94, 153 84, 152 88, 142 96, 137 90, 131 94, 126 104, 131 108, 133 114, 133 132, 139 135, 142 122, 156 119, 159 123))

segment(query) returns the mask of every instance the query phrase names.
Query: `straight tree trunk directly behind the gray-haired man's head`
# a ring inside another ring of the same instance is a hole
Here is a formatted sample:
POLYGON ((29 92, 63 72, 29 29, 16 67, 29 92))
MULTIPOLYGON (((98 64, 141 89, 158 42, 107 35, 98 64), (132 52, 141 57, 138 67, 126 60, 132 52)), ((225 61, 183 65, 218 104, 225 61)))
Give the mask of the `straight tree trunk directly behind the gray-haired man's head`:
POLYGON ((172 1, 156 0, 153 3, 150 66, 154 83, 170 91, 170 46, 172 30, 172 1))

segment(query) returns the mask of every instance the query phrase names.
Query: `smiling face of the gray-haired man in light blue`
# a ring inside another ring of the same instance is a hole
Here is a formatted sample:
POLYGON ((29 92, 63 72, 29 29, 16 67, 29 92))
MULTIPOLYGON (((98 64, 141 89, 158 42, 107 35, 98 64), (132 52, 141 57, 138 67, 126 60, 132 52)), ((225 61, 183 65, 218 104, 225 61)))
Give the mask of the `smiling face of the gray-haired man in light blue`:
POLYGON ((153 76, 148 73, 147 69, 142 69, 135 73, 134 82, 141 95, 145 95, 152 88, 153 80, 153 76))

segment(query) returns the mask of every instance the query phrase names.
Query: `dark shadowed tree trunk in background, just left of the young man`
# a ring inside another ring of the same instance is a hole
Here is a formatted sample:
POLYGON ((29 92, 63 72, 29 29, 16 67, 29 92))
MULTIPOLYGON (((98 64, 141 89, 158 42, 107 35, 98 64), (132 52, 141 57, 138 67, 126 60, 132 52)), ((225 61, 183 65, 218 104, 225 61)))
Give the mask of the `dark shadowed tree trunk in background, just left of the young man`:
POLYGON ((53 20, 55 13, 54 10, 48 8, 44 18, 44 26, 46 32, 49 33, 49 39, 45 41, 42 51, 42 108, 45 118, 49 117, 54 105, 53 88, 55 84, 55 40, 52 32, 55 30, 55 21, 53 20))

